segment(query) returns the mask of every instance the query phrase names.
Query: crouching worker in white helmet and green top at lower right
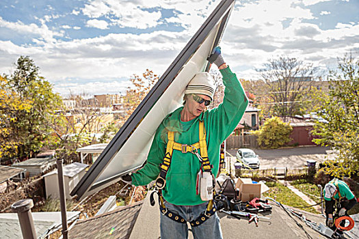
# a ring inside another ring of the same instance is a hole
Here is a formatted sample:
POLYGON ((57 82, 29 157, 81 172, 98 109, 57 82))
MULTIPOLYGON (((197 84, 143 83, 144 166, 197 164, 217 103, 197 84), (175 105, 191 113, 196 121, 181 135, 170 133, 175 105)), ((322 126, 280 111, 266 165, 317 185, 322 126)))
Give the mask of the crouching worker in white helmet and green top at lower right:
MULTIPOLYGON (((349 186, 342 180, 334 178, 324 186, 324 199, 325 199, 325 216, 326 225, 335 230, 334 219, 340 216, 347 216, 347 210, 353 208, 356 203, 356 197, 349 189, 349 186), (336 210, 336 214, 334 211, 336 210)), ((345 226, 345 221, 341 222, 341 226, 345 226), (343 225, 342 225, 343 224, 343 225)), ((341 238, 343 231, 336 230, 341 238)))

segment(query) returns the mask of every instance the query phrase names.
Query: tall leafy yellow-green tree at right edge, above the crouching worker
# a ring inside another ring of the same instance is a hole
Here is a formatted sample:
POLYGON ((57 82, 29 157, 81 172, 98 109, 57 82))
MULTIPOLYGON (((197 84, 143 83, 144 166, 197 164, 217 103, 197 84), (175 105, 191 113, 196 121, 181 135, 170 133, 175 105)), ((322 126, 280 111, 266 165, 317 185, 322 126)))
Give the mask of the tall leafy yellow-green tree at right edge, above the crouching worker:
POLYGON ((359 171, 359 59, 352 55, 338 59, 338 70, 330 72, 328 96, 318 98, 319 115, 313 141, 337 150, 336 160, 328 160, 328 173, 341 177, 359 171))

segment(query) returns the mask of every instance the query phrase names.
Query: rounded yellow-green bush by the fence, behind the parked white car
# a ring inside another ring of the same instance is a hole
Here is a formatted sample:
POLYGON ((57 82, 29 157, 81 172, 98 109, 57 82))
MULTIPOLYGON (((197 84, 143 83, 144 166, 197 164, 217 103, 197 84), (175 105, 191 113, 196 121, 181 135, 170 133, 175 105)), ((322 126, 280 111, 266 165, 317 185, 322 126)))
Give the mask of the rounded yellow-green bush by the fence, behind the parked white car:
POLYGON ((292 126, 282 122, 279 117, 271 117, 265 121, 259 130, 252 132, 258 136, 259 145, 275 149, 291 141, 289 135, 292 130, 292 126))

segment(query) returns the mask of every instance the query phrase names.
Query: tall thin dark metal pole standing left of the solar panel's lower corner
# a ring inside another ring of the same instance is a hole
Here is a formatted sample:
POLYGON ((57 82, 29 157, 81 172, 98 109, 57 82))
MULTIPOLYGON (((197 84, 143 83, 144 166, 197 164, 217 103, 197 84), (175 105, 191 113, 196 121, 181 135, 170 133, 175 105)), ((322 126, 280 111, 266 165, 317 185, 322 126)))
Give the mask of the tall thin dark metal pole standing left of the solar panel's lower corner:
POLYGON ((68 239, 68 227, 67 227, 67 215, 66 215, 66 196, 64 185, 64 173, 62 172, 62 159, 57 159, 57 178, 59 180, 59 196, 60 196, 60 208, 62 219, 62 236, 64 239, 68 239))

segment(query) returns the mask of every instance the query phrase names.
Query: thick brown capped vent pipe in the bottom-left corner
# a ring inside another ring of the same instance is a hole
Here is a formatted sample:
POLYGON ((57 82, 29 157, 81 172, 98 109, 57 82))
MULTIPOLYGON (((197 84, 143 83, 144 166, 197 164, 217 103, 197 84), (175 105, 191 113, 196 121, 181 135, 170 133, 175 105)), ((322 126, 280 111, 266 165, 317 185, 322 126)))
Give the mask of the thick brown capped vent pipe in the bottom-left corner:
POLYGON ((20 222, 21 234, 24 239, 36 239, 36 231, 34 227, 34 220, 31 215, 31 208, 34 207, 32 199, 22 199, 13 203, 11 208, 18 214, 18 221, 20 222))

